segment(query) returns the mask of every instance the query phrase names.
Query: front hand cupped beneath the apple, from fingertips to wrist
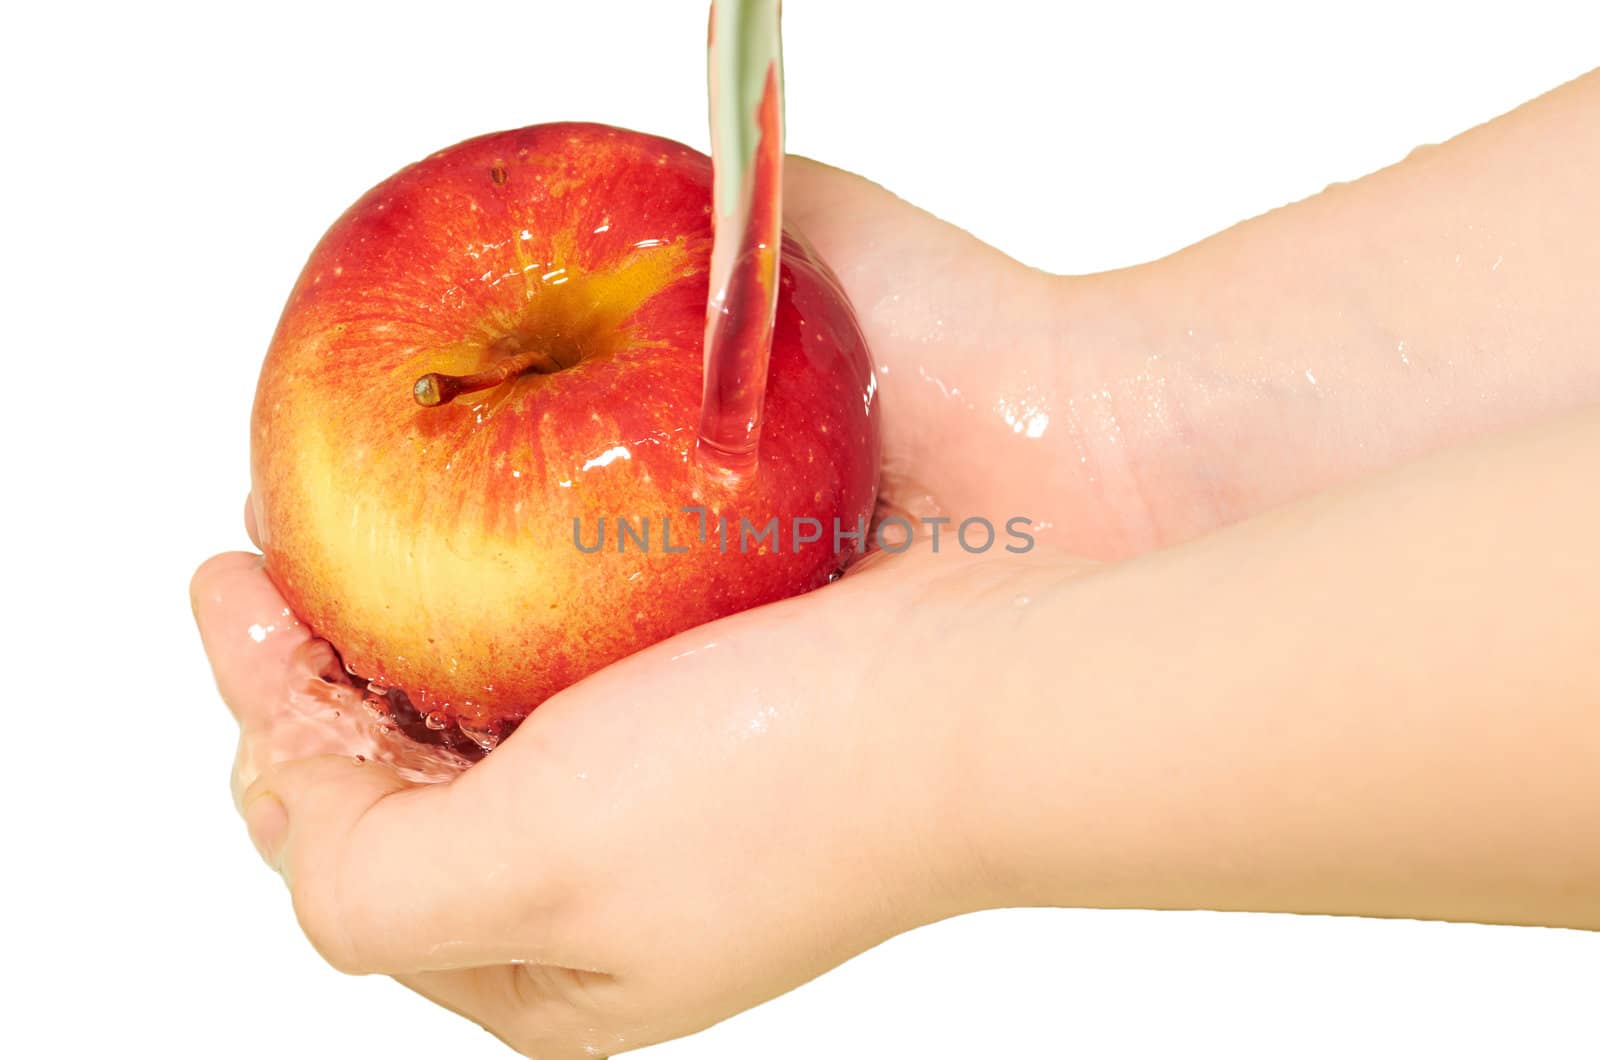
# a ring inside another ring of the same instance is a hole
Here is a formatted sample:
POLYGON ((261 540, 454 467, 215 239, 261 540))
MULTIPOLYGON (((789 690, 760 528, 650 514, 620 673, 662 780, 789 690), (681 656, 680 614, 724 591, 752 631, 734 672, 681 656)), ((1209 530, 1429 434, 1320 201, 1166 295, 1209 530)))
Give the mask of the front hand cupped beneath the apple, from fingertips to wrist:
POLYGON ((394 740, 330 737, 358 697, 258 556, 206 562, 194 602, 240 722, 242 810, 317 950, 528 1055, 586 1057, 989 903, 962 785, 986 705, 952 701, 928 660, 1067 570, 878 554, 590 676, 448 783, 394 740))

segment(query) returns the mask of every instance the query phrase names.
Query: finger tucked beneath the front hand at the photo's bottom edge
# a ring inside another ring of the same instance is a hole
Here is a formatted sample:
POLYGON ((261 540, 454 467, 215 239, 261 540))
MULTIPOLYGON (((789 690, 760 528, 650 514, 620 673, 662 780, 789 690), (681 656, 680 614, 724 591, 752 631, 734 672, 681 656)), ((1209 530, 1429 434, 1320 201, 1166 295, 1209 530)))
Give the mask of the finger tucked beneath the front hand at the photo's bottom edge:
POLYGON ((616 1030, 621 998, 614 978, 538 964, 498 964, 456 972, 397 975, 434 1004, 472 1020, 526 1057, 608 1057, 648 1041, 616 1030))

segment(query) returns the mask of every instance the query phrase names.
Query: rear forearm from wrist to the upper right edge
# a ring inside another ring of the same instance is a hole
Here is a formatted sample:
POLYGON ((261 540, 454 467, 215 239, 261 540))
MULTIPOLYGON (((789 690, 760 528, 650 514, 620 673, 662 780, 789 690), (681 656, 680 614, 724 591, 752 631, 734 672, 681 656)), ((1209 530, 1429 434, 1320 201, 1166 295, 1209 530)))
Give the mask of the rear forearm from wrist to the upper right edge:
MULTIPOLYGON (((1126 551, 1600 399, 1600 72, 1165 261, 1064 280, 1126 551)), ((1062 355, 1072 355, 1072 351, 1062 355)), ((1072 453, 1067 453, 1072 456, 1072 453)))

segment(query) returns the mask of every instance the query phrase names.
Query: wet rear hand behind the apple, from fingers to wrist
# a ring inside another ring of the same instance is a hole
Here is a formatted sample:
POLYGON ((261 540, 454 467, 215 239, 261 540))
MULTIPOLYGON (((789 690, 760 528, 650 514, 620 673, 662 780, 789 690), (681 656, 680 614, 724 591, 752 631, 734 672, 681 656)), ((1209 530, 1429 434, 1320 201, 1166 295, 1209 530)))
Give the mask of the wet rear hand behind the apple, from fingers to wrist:
POLYGON ((1166 543, 1168 522, 1205 524, 1150 495, 1194 439, 1179 437, 1186 402, 1170 376, 1118 333, 1122 275, 1026 267, 806 159, 789 159, 784 181, 787 221, 838 274, 872 349, 886 506, 1024 517, 1042 541, 1096 559, 1166 543))

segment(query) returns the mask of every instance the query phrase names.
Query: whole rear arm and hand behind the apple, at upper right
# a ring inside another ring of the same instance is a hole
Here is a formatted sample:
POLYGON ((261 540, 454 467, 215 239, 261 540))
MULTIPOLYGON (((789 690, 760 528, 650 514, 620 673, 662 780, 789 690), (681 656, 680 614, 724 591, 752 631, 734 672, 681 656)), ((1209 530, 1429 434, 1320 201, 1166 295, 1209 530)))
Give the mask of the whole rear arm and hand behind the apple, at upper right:
POLYGON ((789 167, 883 370, 891 500, 1029 514, 1096 557, 1600 400, 1597 181, 1600 72, 1101 275, 789 167))

